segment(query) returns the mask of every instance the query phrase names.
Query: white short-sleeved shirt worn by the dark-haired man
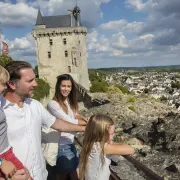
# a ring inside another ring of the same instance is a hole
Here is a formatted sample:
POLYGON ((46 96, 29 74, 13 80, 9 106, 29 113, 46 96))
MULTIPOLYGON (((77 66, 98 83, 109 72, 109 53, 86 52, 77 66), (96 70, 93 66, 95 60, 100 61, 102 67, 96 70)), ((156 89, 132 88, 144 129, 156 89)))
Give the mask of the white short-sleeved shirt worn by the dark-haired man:
POLYGON ((51 127, 56 118, 40 102, 27 98, 23 107, 1 98, 7 119, 7 134, 16 157, 34 180, 46 180, 47 170, 41 149, 41 128, 51 127))

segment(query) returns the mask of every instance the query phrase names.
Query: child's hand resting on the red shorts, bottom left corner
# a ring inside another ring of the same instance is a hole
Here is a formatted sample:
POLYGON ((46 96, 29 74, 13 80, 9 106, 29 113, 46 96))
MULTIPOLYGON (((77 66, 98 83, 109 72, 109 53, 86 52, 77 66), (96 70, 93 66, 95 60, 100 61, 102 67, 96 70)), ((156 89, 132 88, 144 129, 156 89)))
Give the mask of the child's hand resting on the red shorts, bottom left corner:
POLYGON ((10 161, 3 159, 1 165, 1 171, 6 176, 6 178, 12 177, 16 173, 16 167, 10 161))

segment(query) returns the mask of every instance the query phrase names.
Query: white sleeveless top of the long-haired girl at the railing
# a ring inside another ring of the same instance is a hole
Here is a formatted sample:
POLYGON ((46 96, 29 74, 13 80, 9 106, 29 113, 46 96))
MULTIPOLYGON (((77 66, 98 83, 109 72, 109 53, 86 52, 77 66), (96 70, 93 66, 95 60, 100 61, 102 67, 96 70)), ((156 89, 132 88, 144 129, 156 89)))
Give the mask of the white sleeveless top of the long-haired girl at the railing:
POLYGON ((85 180, 109 180, 111 160, 104 156, 104 165, 101 163, 101 147, 100 143, 94 143, 91 150, 85 180))

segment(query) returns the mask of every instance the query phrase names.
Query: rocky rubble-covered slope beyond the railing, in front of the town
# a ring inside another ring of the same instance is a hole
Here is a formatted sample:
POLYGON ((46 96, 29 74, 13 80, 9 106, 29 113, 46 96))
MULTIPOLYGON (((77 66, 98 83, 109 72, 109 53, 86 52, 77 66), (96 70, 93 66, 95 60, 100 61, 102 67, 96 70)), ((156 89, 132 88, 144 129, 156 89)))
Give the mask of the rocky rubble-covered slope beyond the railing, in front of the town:
MULTIPOLYGON (((94 93, 94 98, 106 99, 108 104, 83 110, 90 116, 109 115, 116 122, 115 140, 139 149, 134 157, 168 180, 180 177, 180 113, 165 104, 142 95, 94 93)), ((119 164, 122 158, 114 157, 119 164)), ((126 165, 114 167, 124 179, 136 180, 126 165)))

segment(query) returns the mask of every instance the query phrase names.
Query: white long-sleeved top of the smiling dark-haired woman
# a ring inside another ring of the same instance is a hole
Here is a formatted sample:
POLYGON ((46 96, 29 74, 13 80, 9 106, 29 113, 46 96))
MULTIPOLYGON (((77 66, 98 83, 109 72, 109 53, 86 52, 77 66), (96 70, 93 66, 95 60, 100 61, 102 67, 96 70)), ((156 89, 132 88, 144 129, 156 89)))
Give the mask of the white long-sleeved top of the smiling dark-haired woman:
MULTIPOLYGON (((60 104, 54 100, 51 100, 48 103, 47 109, 57 119, 67 121, 67 122, 70 122, 72 124, 78 124, 78 120, 75 119, 75 114, 74 114, 73 110, 71 109, 68 101, 65 101, 65 104, 66 104, 67 110, 68 110, 67 114, 64 112, 64 110, 62 109, 60 104)), ((73 133, 73 132, 72 133, 62 132, 60 135, 59 144, 65 145, 65 144, 74 143, 74 135, 75 135, 75 133, 73 133)))

